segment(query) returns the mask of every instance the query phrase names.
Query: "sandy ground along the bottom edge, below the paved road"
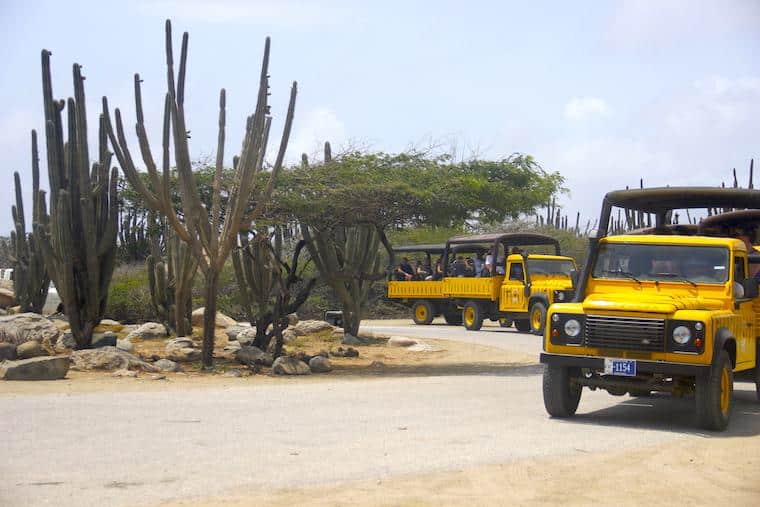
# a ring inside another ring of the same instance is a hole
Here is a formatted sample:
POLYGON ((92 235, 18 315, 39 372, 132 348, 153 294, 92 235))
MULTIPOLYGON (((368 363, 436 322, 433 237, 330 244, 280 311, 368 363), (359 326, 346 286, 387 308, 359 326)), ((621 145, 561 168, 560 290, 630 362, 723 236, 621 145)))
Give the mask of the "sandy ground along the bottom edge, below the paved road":
POLYGON ((628 452, 518 460, 453 472, 161 504, 734 505, 760 502, 760 437, 678 442, 628 452))

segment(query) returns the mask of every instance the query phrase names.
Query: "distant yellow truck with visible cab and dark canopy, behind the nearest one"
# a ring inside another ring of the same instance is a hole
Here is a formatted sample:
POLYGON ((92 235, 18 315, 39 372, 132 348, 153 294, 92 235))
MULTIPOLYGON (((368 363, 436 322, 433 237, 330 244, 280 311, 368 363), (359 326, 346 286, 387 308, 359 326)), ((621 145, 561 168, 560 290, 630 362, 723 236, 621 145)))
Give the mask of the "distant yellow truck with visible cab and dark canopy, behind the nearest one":
POLYGON ((512 321, 518 331, 543 334, 549 305, 573 296, 575 261, 562 256, 559 242, 544 234, 456 236, 446 243, 444 264, 448 267, 442 293, 462 308, 462 321, 468 330, 480 329, 488 318, 502 325, 512 321), (537 246, 548 246, 553 255, 520 250, 537 246), (458 252, 465 248, 483 257, 483 267, 476 276, 456 276, 450 262, 452 256, 461 257, 458 252))

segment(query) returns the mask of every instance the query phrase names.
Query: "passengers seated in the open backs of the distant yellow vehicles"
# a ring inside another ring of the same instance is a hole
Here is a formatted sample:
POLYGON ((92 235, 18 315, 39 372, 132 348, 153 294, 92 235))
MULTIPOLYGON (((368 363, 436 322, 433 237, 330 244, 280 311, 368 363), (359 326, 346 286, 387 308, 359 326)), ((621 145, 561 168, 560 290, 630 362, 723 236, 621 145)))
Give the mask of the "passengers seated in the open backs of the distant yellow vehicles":
MULTIPOLYGON (((512 253, 521 253, 519 249, 513 249, 512 253)), ((493 260, 492 254, 487 254, 483 258, 482 253, 476 253, 474 256, 457 255, 452 259, 449 268, 446 271, 448 276, 452 277, 490 277, 503 275, 505 258, 500 255, 493 260)), ((442 280, 444 276, 443 259, 438 258, 433 267, 429 263, 415 261, 414 265, 409 262, 409 258, 403 257, 401 263, 394 270, 394 278, 398 281, 421 281, 421 280, 442 280)))

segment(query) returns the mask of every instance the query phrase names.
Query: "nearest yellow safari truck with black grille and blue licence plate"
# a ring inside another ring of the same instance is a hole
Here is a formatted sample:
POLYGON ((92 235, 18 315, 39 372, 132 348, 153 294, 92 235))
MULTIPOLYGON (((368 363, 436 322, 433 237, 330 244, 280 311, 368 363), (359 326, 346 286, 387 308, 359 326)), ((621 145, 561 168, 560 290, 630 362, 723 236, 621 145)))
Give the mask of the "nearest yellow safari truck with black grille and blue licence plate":
POLYGON ((575 414, 584 387, 612 395, 694 395, 698 424, 723 430, 734 372, 758 377, 755 303, 744 241, 673 234, 674 210, 760 208, 760 191, 670 187, 608 193, 572 302, 552 305, 541 362, 544 405, 575 414), (613 207, 654 215, 645 234, 608 236, 613 207))

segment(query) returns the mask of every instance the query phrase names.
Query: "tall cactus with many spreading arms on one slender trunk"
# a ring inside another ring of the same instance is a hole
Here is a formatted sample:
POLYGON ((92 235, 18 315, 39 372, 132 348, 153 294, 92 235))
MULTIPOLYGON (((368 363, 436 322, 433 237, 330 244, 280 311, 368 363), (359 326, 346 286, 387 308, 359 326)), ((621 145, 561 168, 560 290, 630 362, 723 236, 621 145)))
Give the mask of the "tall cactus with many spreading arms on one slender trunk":
MULTIPOLYGON (((258 99, 254 113, 246 122, 243 147, 238 162, 235 164, 231 188, 222 188, 222 169, 224 163, 224 139, 226 124, 226 95, 224 89, 219 94, 219 130, 216 152, 216 167, 212 185, 211 209, 207 209, 198 194, 190 162, 188 130, 185 119, 185 75, 187 64, 188 35, 182 36, 182 50, 179 60, 179 72, 174 73, 174 52, 172 44, 171 23, 166 22, 166 64, 167 94, 164 102, 164 136, 163 136, 163 175, 159 175, 153 161, 143 118, 140 76, 135 75, 135 104, 137 110, 137 138, 140 152, 148 170, 150 187, 139 177, 124 136, 121 114, 115 111, 116 133, 108 119, 108 135, 119 160, 122 170, 129 182, 143 196, 147 206, 164 215, 177 235, 186 242, 205 278, 205 312, 203 318, 203 364, 209 367, 213 363, 214 328, 216 324, 216 295, 219 273, 224 263, 236 246, 238 233, 250 229, 254 219, 264 211, 270 199, 275 179, 282 169, 288 138, 293 124, 296 100, 296 83, 290 92, 288 112, 280 141, 277 158, 272 165, 269 182, 263 188, 257 188, 259 175, 265 171, 264 161, 269 139, 272 118, 269 116, 269 39, 264 46, 264 59, 259 78, 258 99), (182 219, 175 212, 169 192, 169 137, 174 141, 174 160, 177 165, 177 177, 182 203, 182 219), (222 192, 229 196, 227 209, 222 213, 222 192)), ((104 99, 104 107, 107 107, 104 99)))

